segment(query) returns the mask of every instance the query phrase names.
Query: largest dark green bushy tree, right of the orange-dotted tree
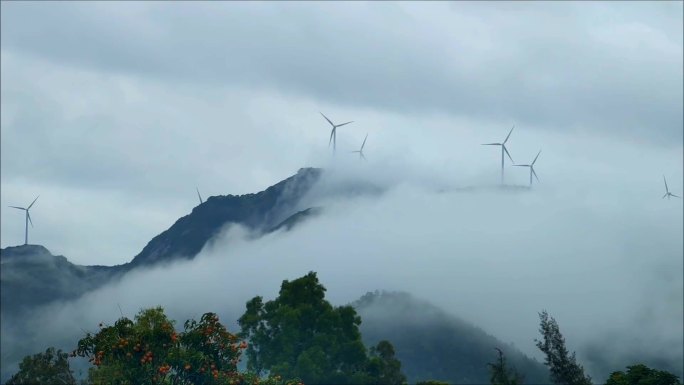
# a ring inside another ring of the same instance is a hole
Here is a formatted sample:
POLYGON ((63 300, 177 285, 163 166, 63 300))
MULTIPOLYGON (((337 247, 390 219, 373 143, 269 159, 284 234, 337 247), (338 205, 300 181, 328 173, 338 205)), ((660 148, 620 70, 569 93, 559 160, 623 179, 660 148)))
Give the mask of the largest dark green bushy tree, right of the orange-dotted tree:
POLYGON ((283 281, 275 300, 264 303, 254 297, 247 302, 238 322, 241 337, 250 341, 250 370, 314 384, 377 382, 378 375, 393 373, 398 361, 394 348, 388 348, 391 344, 379 344, 379 360, 371 362, 361 341, 361 318, 351 306, 333 307, 325 300, 325 290, 316 273, 309 272, 283 281))

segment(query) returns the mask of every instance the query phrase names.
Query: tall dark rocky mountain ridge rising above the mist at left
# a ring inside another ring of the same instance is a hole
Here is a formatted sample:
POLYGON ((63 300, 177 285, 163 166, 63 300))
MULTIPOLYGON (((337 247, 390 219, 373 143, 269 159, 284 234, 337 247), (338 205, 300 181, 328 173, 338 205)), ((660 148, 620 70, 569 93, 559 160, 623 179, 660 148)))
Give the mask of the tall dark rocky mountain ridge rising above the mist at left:
POLYGON ((257 235, 289 230, 318 212, 300 204, 321 173, 321 169, 302 168, 256 194, 210 197, 154 237, 131 262, 118 266, 75 265, 40 245, 0 249, 3 316, 78 298, 140 266, 192 259, 229 224, 245 226, 257 235))

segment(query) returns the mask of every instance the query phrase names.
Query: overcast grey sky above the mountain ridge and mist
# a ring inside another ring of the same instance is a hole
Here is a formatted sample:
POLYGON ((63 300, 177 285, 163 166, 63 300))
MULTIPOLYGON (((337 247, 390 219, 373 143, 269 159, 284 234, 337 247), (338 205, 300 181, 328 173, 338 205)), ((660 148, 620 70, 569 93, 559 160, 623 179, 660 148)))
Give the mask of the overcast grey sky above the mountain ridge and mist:
POLYGON ((195 186, 325 165, 319 111, 370 159, 484 172, 516 124, 519 162, 600 136, 662 149, 645 181, 682 190, 682 2, 3 2, 1 28, 3 247, 40 194, 30 243, 128 261, 195 186))

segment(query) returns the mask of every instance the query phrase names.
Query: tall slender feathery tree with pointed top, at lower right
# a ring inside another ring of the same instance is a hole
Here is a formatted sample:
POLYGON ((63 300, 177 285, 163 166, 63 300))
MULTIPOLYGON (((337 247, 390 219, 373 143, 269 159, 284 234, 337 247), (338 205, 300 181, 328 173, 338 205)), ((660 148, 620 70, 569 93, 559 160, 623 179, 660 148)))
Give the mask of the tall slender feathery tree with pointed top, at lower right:
POLYGON ((570 355, 565 347, 565 338, 556 320, 549 317, 546 310, 539 313, 539 319, 539 332, 544 340, 535 339, 535 343, 546 354, 544 364, 549 367, 551 381, 564 385, 591 385, 591 377, 584 374, 584 368, 575 360, 575 353, 570 355))

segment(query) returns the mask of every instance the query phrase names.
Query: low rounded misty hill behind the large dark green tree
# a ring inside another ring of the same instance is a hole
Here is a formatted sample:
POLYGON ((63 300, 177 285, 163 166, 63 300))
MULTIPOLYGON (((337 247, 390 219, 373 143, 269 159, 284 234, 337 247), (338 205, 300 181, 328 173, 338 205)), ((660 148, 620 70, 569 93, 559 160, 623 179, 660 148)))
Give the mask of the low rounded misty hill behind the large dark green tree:
POLYGON ((544 365, 482 329, 407 293, 368 293, 352 304, 361 316, 366 346, 381 340, 394 345, 409 383, 440 380, 450 384, 488 384, 488 362, 495 347, 525 384, 549 383, 544 365))

